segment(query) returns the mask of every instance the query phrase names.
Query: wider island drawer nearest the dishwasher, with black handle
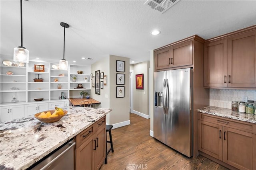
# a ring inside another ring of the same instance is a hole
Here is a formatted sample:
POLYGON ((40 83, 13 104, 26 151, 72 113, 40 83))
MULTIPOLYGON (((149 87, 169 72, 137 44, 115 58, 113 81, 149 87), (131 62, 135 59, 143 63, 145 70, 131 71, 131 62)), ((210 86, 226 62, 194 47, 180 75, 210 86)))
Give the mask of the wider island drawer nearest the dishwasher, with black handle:
POLYGON ((94 124, 83 130, 81 133, 76 135, 76 148, 80 147, 87 139, 89 139, 94 133, 94 124))

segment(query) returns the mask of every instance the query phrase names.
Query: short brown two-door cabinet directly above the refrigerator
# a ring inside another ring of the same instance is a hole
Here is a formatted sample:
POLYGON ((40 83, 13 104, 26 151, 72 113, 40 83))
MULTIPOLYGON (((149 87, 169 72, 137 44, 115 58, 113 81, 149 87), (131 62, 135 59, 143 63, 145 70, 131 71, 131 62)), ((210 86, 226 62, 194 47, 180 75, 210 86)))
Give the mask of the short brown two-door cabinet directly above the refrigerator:
POLYGON ((195 40, 204 43, 204 39, 194 35, 154 50, 155 71, 193 67, 195 40))

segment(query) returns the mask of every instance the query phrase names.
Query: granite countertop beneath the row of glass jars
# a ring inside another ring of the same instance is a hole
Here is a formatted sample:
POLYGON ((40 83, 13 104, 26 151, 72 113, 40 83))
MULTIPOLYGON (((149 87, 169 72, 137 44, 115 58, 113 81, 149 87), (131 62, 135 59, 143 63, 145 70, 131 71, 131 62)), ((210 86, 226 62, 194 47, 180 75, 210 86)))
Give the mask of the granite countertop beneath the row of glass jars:
POLYGON ((210 115, 216 115, 230 119, 256 123, 256 115, 254 114, 240 113, 238 111, 232 111, 231 109, 226 109, 222 107, 206 106, 201 109, 198 109, 197 111, 207 113, 210 115))

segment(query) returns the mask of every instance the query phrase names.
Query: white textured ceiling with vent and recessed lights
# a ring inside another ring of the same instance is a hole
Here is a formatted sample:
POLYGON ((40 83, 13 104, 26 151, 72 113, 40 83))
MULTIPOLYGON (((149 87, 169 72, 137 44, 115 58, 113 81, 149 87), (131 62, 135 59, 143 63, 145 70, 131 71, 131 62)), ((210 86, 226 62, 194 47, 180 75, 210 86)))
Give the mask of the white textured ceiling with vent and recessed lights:
MULTIPOLYGON (((191 35, 209 39, 256 24, 256 1, 180 0, 164 14, 146 0, 23 1, 23 46, 30 59, 92 64, 109 55, 135 63, 150 60, 150 50, 191 35), (150 35, 154 29, 160 35, 150 35), (81 57, 93 60, 82 60, 81 57)), ((12 59, 20 46, 20 1, 0 0, 1 57, 12 59)))

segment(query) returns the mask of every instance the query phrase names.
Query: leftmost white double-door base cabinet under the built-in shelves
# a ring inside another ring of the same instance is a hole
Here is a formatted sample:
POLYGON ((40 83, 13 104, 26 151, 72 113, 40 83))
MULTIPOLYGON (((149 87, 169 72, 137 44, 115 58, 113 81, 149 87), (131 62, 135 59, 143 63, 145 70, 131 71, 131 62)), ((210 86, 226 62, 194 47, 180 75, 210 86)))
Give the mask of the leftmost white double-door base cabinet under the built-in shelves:
POLYGON ((24 105, 0 107, 0 122, 24 117, 24 105))

